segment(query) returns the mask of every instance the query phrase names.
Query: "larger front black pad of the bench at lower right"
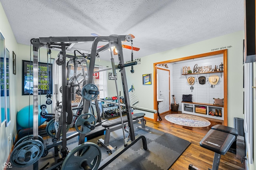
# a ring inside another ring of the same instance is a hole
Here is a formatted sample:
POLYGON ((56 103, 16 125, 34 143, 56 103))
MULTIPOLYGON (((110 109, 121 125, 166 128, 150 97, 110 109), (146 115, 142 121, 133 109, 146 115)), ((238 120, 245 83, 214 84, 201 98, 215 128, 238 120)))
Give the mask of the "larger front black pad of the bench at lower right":
POLYGON ((236 136, 219 130, 210 129, 200 141, 200 146, 224 155, 236 139, 236 136))

